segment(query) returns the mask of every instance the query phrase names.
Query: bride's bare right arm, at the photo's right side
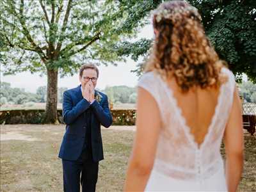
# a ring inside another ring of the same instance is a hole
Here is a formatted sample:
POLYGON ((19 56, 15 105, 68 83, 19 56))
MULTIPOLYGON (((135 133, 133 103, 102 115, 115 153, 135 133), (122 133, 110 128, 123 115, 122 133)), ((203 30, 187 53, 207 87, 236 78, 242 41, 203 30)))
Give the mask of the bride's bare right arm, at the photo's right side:
POLYGON ((243 150, 243 116, 236 88, 230 117, 225 129, 226 182, 229 192, 237 190, 243 172, 243 150))

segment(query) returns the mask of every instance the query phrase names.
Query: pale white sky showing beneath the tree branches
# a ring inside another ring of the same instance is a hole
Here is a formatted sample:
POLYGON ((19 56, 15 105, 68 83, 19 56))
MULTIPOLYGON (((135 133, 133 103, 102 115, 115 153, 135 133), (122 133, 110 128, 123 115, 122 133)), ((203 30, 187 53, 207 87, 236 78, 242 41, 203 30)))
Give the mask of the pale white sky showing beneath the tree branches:
MULTIPOLYGON (((152 26, 147 25, 141 29, 137 38, 152 38, 152 26)), ((99 66, 99 79, 97 81, 97 88, 104 90, 106 86, 136 86, 138 77, 131 70, 136 69, 136 62, 127 58, 127 61, 118 66, 108 65, 108 67, 99 66)), ((0 74, 1 82, 11 83, 12 88, 24 88, 26 92, 36 93, 39 86, 47 85, 47 77, 40 77, 39 74, 31 74, 30 72, 22 72, 12 76, 3 76, 0 74)), ((79 84, 78 72, 74 76, 66 76, 58 79, 58 87, 74 88, 79 84)))

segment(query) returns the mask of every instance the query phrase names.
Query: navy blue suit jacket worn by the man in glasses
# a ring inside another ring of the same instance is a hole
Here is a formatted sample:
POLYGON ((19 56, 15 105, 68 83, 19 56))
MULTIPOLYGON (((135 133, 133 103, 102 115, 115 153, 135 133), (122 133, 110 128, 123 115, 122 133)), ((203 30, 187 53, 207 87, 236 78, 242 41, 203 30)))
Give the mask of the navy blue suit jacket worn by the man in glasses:
MULTIPOLYGON (((95 92, 98 92, 95 90, 95 92)), ((61 159, 76 161, 81 155, 85 140, 86 116, 83 113, 88 108, 92 108, 92 156, 93 161, 104 159, 100 124, 109 127, 113 120, 108 106, 108 97, 104 93, 98 92, 102 97, 100 102, 95 100, 90 104, 83 98, 81 85, 67 90, 63 93, 63 121, 66 132, 60 147, 59 157, 61 159)))

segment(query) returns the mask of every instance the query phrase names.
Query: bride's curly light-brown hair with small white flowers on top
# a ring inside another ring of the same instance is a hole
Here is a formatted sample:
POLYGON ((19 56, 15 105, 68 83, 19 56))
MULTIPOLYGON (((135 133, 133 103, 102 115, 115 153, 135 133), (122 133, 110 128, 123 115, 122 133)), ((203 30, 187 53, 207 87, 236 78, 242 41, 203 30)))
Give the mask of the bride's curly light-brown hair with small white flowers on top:
POLYGON ((196 8, 185 1, 165 2, 154 10, 156 39, 145 71, 156 71, 165 80, 175 77, 182 92, 193 86, 220 86, 225 63, 205 36, 200 20, 196 8))

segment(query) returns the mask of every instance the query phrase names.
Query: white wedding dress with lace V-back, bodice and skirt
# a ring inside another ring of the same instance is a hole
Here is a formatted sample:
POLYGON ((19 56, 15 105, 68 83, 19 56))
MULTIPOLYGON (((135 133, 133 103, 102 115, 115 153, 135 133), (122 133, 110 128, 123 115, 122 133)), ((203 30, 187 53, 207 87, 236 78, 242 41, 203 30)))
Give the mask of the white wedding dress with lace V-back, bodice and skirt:
POLYGON ((228 76, 228 81, 221 84, 218 104, 200 147, 167 83, 154 72, 141 77, 138 86, 154 97, 163 121, 145 191, 227 191, 220 146, 236 83, 230 70, 222 68, 221 73, 228 76))

